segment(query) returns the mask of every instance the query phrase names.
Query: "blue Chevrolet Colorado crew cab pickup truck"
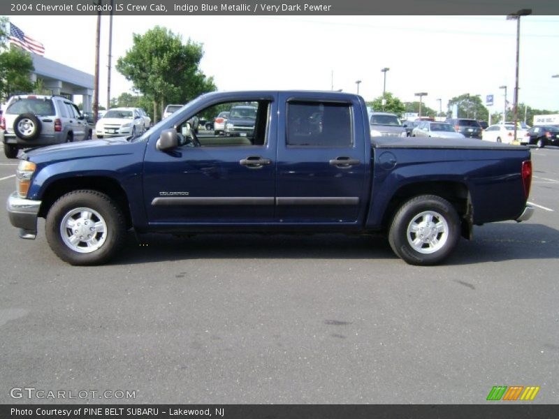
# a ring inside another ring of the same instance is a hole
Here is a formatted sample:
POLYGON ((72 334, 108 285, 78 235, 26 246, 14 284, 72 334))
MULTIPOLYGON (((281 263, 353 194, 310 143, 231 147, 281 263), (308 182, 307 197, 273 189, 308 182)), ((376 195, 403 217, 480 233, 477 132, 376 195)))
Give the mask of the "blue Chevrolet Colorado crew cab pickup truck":
POLYGON ((386 232, 413 265, 440 263, 472 226, 530 218, 527 147, 371 137, 355 94, 205 94, 134 138, 22 154, 8 214, 72 265, 106 263, 136 233, 386 232), (234 137, 189 120, 256 108, 234 137))

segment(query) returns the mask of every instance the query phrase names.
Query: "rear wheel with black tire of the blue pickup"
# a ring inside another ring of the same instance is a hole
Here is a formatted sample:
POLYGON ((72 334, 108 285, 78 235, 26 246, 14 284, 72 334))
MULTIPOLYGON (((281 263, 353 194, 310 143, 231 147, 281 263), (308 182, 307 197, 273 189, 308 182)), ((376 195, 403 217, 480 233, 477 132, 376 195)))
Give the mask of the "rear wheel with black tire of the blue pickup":
POLYGON ((405 202, 396 212, 389 230, 392 250, 410 265, 440 263, 450 255, 459 238, 460 218, 456 209, 449 201, 435 195, 416 196, 405 202))

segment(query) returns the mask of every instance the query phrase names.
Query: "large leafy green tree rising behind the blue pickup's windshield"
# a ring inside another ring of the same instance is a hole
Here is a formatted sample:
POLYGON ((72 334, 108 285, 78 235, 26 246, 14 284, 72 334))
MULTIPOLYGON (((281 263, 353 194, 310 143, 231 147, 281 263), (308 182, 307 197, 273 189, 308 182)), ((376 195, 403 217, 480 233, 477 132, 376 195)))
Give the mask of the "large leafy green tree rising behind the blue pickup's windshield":
POLYGON ((216 89, 213 78, 198 68, 202 57, 201 44, 190 39, 184 44, 180 35, 156 26, 133 34, 133 47, 118 59, 117 70, 151 99, 155 122, 158 105, 162 113, 165 103, 187 103, 216 89))

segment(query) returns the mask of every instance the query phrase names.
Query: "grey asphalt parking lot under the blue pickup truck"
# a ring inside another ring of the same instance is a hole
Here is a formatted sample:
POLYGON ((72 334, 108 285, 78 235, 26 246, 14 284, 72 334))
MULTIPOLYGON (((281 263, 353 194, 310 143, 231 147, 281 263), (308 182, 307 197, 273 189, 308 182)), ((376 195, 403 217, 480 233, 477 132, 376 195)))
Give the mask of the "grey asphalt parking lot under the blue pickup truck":
POLYGON ((338 235, 130 235, 112 264, 71 267, 4 210, 0 403, 480 404, 535 385, 556 404, 559 148, 532 160, 532 219, 475 228, 439 267, 338 235), (88 395, 10 397, 24 387, 88 395))

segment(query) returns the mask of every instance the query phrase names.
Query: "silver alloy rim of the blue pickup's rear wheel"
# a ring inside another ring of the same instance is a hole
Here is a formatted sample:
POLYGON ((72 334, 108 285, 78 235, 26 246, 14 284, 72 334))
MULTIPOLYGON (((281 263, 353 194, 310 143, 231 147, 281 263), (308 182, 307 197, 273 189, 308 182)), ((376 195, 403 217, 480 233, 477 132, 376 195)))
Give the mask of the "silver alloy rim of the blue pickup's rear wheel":
POLYGON ((406 237, 415 251, 435 253, 444 247, 449 238, 449 224, 438 212, 423 211, 408 224, 406 237))

